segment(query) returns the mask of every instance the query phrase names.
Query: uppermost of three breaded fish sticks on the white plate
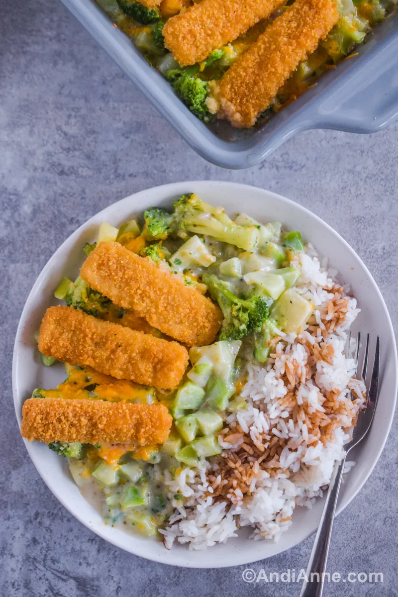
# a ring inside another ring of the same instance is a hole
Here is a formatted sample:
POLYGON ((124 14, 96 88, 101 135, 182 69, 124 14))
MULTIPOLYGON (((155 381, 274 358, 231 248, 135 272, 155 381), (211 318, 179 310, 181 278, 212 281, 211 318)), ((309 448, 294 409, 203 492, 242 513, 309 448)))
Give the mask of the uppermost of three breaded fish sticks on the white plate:
POLYGON ((209 298, 118 242, 100 242, 80 275, 113 303, 134 309, 152 327, 187 346, 211 344, 220 329, 223 315, 209 298))

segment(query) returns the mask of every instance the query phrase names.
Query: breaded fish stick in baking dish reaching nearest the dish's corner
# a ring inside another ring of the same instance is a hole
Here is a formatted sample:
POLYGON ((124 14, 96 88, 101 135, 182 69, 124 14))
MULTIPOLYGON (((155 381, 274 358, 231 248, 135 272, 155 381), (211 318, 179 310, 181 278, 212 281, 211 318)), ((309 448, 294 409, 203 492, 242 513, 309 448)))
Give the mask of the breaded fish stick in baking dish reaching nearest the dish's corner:
POLYGON ((252 127, 298 64, 306 60, 339 19, 335 0, 295 0, 232 64, 211 95, 218 118, 252 127))

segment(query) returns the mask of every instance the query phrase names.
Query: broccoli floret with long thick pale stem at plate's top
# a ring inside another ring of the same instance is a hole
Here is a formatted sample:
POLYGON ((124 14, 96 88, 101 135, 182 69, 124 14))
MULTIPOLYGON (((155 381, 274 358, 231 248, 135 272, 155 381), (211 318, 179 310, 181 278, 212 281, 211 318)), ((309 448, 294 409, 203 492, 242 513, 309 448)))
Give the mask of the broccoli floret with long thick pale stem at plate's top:
POLYGON ((221 207, 203 203, 195 193, 183 195, 174 204, 178 230, 213 236, 217 241, 228 242, 245 251, 257 245, 260 231, 257 226, 238 226, 221 207))

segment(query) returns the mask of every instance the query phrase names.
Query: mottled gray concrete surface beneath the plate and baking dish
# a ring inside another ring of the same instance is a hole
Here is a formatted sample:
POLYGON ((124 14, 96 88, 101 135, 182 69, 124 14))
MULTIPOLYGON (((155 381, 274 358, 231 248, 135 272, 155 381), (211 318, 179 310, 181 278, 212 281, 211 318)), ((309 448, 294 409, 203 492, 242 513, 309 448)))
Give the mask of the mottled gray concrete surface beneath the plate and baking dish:
MULTIPOLYGON (((375 136, 301 134, 264 164, 230 172, 199 158, 54 0, 2 2, 0 268, 2 377, 0 595, 210 597, 298 595, 298 585, 245 584, 245 567, 184 570, 124 553, 83 527, 39 478, 11 399, 18 318, 58 245, 116 199, 156 184, 221 179, 286 195, 347 239, 397 317, 398 126, 375 136)), ((382 584, 325 595, 398 595, 396 421, 371 478, 335 522, 330 571, 381 571, 382 584)), ((252 568, 305 568, 312 540, 252 568)))

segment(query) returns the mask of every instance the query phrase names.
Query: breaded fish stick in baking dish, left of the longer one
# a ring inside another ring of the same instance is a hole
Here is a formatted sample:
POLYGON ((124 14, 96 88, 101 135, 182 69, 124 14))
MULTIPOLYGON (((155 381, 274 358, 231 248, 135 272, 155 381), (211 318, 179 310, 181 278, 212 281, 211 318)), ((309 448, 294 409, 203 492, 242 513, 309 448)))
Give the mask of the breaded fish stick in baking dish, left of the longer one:
POLYGON ((286 0, 202 0, 163 27, 166 48, 181 66, 204 60, 233 41, 286 0))

